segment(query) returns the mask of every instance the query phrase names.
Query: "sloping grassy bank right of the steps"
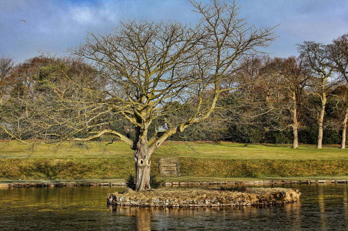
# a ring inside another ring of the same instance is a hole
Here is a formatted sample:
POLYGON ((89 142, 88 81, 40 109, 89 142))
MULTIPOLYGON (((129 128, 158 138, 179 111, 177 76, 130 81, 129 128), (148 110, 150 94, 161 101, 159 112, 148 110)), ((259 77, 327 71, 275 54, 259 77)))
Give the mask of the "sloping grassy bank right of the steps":
POLYGON ((179 158, 183 176, 277 177, 348 175, 348 161, 179 158))

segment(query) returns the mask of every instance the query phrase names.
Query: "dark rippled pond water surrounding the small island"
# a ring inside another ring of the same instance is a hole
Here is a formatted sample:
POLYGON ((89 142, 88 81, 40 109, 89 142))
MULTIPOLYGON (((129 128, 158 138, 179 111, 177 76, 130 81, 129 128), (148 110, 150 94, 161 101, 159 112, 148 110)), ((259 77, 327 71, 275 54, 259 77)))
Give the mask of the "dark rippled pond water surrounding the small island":
MULTIPOLYGON (((270 187, 270 185, 264 185, 270 187)), ((0 230, 348 230, 347 184, 284 184, 299 202, 224 208, 107 207, 122 187, 0 187, 0 230)))

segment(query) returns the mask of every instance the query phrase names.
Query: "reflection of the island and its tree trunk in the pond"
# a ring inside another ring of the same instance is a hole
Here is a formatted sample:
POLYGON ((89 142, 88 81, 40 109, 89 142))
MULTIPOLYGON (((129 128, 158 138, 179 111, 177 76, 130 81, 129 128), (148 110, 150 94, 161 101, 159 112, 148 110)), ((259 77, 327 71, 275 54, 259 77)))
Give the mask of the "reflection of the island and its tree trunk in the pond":
MULTIPOLYGON (((297 204, 297 203, 295 203, 297 204)), ((286 205, 288 208, 297 207, 292 205, 286 205)), ((117 216, 135 217, 136 218, 136 230, 168 230, 173 229, 176 226, 174 224, 185 224, 185 227, 191 229, 206 230, 206 229, 225 229, 227 227, 232 228, 234 218, 248 218, 257 217, 260 209, 266 207, 257 206, 239 206, 239 207, 191 207, 191 208, 138 208, 128 206, 109 206, 109 211, 112 211, 117 216), (217 218, 218 216, 218 218, 217 218), (169 219, 171 222, 166 221, 169 219), (197 219, 197 220, 196 220, 197 219), (230 225, 225 227, 226 224, 221 225, 218 221, 231 222, 230 225), (205 224, 205 225, 202 225, 205 224), (187 226, 188 225, 188 226, 187 226)), ((267 206, 268 209, 272 206, 267 206)), ((176 227, 180 229, 180 227, 176 227)))

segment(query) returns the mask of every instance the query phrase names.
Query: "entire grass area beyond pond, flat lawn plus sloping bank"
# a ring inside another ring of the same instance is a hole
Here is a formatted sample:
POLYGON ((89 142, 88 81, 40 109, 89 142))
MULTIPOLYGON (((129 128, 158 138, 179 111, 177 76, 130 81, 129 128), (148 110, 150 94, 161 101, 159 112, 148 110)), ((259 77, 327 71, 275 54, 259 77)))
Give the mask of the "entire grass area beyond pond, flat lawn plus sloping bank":
MULTIPOLYGON (((132 150, 122 142, 40 144, 33 150, 17 142, 0 145, 0 180, 122 179, 134 172, 132 150)), ((274 144, 166 142, 153 155, 153 173, 158 173, 159 157, 177 158, 181 177, 188 178, 348 175, 348 150, 335 146, 293 150, 274 144)))

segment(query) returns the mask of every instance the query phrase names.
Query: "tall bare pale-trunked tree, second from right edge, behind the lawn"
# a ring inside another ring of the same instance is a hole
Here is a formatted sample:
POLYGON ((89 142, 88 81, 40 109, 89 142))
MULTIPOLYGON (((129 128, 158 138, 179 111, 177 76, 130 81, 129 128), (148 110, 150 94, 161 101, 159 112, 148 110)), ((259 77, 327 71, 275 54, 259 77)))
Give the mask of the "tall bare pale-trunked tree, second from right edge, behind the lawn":
POLYGON ((313 78, 311 78, 311 85, 314 89, 314 94, 319 96, 321 101, 318 117, 319 130, 317 148, 322 148, 325 106, 327 103, 327 96, 335 85, 335 82, 331 81, 334 78, 335 64, 330 59, 327 45, 315 42, 304 42, 302 45, 298 45, 298 51, 300 52, 300 57, 303 58, 311 70, 311 75, 313 76, 313 78))

